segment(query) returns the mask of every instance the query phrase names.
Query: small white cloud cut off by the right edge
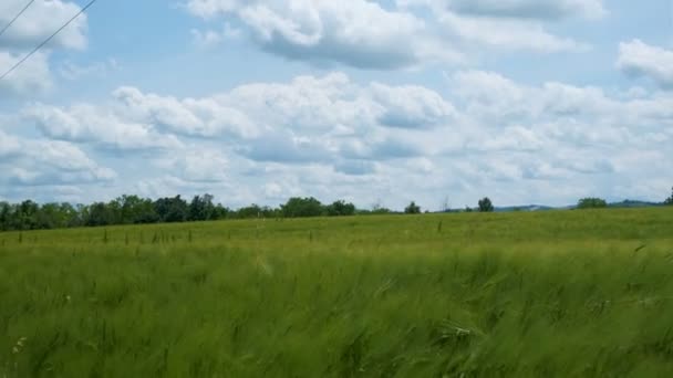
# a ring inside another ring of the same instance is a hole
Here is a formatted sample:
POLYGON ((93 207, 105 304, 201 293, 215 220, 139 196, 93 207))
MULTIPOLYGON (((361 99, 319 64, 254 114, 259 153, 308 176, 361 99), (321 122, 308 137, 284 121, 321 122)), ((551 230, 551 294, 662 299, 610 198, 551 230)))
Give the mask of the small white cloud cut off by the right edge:
POLYGON ((648 77, 662 88, 673 88, 673 51, 649 45, 641 40, 619 45, 617 66, 634 77, 648 77))

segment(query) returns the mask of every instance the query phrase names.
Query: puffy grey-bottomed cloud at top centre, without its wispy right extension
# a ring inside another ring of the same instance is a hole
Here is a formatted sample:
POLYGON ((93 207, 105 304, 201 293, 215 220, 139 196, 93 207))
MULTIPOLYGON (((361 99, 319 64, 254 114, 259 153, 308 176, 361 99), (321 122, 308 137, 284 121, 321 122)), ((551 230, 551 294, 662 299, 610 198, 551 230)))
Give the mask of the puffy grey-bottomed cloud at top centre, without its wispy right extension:
POLYGON ((189 0, 186 7, 201 18, 235 17, 261 49, 291 60, 390 70, 462 59, 423 19, 372 1, 189 0))

